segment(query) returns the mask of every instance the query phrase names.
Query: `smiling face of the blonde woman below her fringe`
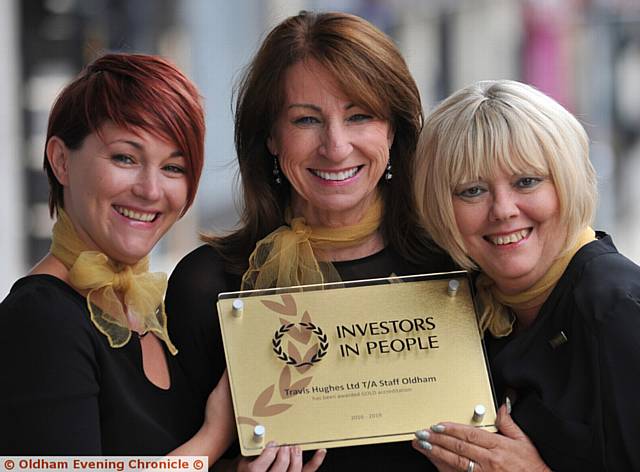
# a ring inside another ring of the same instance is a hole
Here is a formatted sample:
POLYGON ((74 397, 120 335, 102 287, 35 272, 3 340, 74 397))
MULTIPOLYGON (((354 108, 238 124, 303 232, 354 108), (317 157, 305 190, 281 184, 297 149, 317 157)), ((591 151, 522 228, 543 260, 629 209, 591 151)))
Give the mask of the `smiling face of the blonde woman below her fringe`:
POLYGON ((463 183, 453 210, 467 254, 505 293, 536 283, 565 243, 567 227, 546 176, 498 171, 463 183))

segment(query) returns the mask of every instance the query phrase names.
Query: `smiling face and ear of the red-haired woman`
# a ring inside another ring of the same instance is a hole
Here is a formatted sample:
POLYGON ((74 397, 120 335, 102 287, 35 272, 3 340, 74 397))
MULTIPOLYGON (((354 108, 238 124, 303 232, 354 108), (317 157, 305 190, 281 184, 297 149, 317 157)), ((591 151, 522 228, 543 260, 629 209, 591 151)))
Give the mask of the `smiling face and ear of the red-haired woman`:
POLYGON ((185 158, 145 131, 107 123, 79 149, 52 138, 47 155, 78 236, 118 262, 148 255, 185 207, 185 158))

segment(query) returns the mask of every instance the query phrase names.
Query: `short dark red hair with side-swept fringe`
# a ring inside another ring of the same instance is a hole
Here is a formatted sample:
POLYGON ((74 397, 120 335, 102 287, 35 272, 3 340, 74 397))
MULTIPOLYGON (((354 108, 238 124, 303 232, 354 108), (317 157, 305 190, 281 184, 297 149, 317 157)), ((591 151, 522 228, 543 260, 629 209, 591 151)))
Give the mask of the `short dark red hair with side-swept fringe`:
MULTIPOLYGON (((166 59, 145 54, 106 54, 58 95, 47 128, 70 149, 107 121, 131 132, 144 130, 175 143, 187 161, 186 211, 195 198, 204 164, 204 110, 196 86, 166 59)), ((44 156, 51 216, 64 207, 63 186, 44 156)))

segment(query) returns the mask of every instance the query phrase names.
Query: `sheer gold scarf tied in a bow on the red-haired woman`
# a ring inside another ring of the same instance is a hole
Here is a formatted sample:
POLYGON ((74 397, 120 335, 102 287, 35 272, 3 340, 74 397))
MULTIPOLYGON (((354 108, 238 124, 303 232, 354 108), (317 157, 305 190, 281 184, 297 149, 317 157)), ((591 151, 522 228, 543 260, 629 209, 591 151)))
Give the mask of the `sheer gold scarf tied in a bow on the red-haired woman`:
POLYGON ((174 356, 178 350, 169 339, 164 293, 167 275, 149 272, 149 258, 134 265, 121 264, 98 251, 87 250, 64 212, 58 210, 53 225, 51 254, 69 270, 69 281, 78 291, 88 291, 87 307, 95 327, 111 347, 122 347, 131 339, 129 318, 142 334, 153 332, 174 356), (128 316, 128 317, 127 317, 128 316))

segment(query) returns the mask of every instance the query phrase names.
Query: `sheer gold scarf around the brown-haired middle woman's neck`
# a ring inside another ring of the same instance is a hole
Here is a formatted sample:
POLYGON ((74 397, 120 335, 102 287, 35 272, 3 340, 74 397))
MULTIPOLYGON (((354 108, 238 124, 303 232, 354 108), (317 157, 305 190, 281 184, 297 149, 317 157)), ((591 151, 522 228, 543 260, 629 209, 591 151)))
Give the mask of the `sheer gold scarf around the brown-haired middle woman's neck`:
POLYGON ((342 228, 312 227, 303 217, 285 212, 281 226, 256 244, 249 256, 249 268, 242 276, 242 290, 339 282, 330 262, 319 262, 314 249, 357 246, 380 227, 383 204, 376 197, 362 221, 342 228))

